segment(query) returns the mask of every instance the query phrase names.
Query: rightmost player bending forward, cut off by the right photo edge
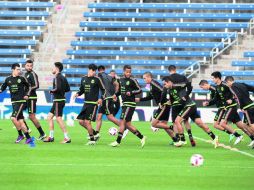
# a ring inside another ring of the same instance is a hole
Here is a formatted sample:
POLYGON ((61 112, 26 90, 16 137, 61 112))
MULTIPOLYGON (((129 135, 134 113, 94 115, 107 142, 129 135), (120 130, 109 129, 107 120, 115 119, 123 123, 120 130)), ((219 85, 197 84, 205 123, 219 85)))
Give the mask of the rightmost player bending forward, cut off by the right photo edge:
POLYGON ((248 146, 254 148, 254 102, 250 99, 249 94, 249 92, 254 92, 254 86, 235 82, 232 76, 227 76, 225 81, 236 97, 240 109, 244 112, 244 123, 248 125, 247 130, 252 140, 248 146))

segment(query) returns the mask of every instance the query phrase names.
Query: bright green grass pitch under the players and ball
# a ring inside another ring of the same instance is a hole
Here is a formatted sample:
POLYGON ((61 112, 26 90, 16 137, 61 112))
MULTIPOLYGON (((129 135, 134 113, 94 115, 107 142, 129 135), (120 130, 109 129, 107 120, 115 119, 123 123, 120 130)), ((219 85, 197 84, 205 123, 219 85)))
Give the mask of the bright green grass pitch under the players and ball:
MULTIPOLYGON (((14 144, 17 132, 8 120, 1 120, 0 128, 0 189, 253 189, 254 158, 224 148, 214 149, 209 143, 197 140, 197 147, 190 144, 176 148, 162 130, 153 133, 147 122, 134 122, 148 139, 144 149, 139 140, 128 134, 118 148, 108 144, 115 137, 108 135, 113 126, 103 123, 101 139, 94 147, 85 146, 86 131, 76 123, 68 127, 71 144, 60 144, 63 135, 56 126, 55 142, 36 142, 36 146, 14 144), (205 158, 199 168, 190 166, 192 154, 205 158)), ((37 130, 28 122, 38 136, 37 130)), ((46 122, 42 125, 47 131, 46 122)), ((213 131, 220 142, 228 143, 228 135, 213 131)), ((203 139, 209 136, 193 125, 193 133, 203 139)), ((236 146, 254 156, 246 145, 249 139, 236 146)), ((232 146, 232 144, 231 144, 232 146)))

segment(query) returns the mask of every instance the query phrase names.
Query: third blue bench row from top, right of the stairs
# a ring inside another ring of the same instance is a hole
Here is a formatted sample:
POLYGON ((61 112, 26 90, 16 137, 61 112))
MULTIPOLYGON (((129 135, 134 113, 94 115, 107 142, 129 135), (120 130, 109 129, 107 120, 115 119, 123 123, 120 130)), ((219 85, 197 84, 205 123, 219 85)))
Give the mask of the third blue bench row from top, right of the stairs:
POLYGON ((195 29, 241 29, 248 28, 244 22, 87 22, 81 21, 81 27, 90 28, 195 28, 195 29))

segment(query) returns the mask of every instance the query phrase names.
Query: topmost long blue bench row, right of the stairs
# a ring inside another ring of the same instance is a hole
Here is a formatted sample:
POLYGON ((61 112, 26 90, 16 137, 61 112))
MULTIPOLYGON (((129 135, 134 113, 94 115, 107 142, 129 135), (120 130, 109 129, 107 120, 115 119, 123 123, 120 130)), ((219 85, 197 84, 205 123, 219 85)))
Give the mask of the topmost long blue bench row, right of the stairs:
POLYGON ((210 9, 210 10, 253 10, 253 4, 233 3, 91 3, 88 8, 97 9, 210 9))

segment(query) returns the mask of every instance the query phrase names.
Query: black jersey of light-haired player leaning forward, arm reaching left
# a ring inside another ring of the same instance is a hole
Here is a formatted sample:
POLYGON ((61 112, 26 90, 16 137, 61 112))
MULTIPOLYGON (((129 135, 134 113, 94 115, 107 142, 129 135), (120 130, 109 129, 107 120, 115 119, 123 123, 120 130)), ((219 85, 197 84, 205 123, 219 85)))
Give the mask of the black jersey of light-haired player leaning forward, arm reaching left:
POLYGON ((154 79, 152 79, 150 83, 150 91, 148 92, 148 96, 140 98, 140 101, 148 101, 154 99, 156 104, 158 105, 161 101, 161 94, 162 94, 163 87, 160 83, 154 79))

